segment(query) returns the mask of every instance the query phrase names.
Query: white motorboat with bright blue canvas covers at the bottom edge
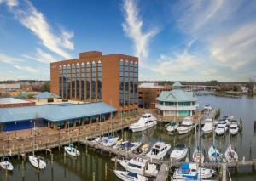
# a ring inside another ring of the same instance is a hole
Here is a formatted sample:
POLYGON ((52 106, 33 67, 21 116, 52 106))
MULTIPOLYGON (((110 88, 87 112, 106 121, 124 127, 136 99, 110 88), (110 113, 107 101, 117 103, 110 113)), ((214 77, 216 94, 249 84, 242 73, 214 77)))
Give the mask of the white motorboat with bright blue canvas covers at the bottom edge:
POLYGON ((197 167, 196 163, 183 163, 175 170, 173 178, 181 180, 201 180, 212 178, 214 170, 204 167, 197 167))

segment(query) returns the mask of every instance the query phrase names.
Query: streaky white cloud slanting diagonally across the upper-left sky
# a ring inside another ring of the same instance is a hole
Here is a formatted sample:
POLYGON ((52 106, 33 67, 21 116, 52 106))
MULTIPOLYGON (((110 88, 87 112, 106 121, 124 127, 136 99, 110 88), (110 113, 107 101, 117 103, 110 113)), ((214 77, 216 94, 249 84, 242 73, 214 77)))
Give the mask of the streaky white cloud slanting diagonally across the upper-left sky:
POLYGON ((11 11, 21 25, 24 25, 41 40, 44 47, 65 59, 71 59, 71 55, 64 48, 73 50, 74 46, 71 41, 73 32, 61 31, 59 35, 55 34, 44 14, 39 12, 29 1, 26 1, 26 8, 13 8, 11 11))

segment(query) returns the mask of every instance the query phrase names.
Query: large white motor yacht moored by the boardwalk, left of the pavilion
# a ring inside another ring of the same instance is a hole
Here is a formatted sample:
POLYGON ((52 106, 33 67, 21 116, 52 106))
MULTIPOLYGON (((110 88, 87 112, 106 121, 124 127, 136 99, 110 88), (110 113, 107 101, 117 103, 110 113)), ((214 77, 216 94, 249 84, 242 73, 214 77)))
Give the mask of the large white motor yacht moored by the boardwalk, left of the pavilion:
POLYGON ((131 124, 129 128, 132 132, 141 132, 155 125, 157 125, 155 116, 150 113, 145 113, 137 122, 131 124))

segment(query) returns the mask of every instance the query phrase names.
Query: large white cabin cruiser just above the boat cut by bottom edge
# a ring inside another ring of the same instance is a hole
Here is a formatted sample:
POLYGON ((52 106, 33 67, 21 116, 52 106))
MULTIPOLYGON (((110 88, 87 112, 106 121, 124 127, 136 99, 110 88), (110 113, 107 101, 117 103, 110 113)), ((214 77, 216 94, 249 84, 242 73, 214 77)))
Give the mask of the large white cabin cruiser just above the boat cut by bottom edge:
POLYGON ((137 173, 140 175, 147 175, 155 177, 158 173, 155 164, 150 164, 147 159, 140 157, 133 158, 131 160, 119 161, 120 165, 125 168, 125 170, 131 173, 137 173))

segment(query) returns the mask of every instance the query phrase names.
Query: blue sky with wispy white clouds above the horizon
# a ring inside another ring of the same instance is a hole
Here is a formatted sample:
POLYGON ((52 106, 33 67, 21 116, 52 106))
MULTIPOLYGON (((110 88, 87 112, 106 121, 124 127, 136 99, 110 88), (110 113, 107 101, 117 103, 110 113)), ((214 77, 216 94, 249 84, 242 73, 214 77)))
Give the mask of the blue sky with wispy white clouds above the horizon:
POLYGON ((140 80, 255 79, 256 1, 0 0, 0 80, 90 50, 138 56, 140 80))

